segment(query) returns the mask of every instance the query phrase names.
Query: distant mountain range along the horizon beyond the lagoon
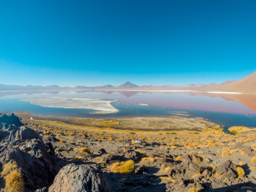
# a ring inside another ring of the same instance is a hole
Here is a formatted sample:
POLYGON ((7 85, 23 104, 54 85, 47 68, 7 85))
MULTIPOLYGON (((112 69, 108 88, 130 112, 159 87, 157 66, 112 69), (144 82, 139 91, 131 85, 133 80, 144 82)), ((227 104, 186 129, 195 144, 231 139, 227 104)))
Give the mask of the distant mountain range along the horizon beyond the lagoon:
POLYGON ((86 86, 76 86, 76 87, 59 87, 58 85, 50 86, 20 86, 20 85, 4 85, 0 84, 0 91, 32 91, 32 90, 119 90, 119 91, 129 91, 129 90, 195 90, 195 91, 226 91, 226 92, 246 92, 246 93, 256 93, 256 72, 250 74, 249 76, 240 79, 238 81, 225 81, 221 84, 210 83, 210 84, 189 84, 184 86, 176 85, 163 85, 163 86, 152 86, 143 85, 138 86, 127 81, 119 86, 113 85, 103 85, 96 87, 86 87, 86 86))

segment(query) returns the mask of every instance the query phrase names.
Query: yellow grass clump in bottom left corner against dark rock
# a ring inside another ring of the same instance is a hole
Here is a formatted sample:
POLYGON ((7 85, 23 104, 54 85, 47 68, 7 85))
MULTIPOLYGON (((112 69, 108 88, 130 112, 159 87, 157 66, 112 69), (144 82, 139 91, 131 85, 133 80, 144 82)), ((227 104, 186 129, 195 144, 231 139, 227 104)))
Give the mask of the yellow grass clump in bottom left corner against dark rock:
POLYGON ((6 181, 5 192, 23 192, 24 183, 20 170, 16 162, 9 162, 3 166, 1 172, 4 180, 6 181))

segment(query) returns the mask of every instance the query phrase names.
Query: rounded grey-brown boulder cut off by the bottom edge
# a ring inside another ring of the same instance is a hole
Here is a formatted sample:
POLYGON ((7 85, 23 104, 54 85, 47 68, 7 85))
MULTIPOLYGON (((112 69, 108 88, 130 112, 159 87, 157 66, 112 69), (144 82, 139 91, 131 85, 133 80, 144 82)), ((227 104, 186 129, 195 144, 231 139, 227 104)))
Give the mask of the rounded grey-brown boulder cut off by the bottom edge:
POLYGON ((55 177, 49 192, 111 192, 99 165, 64 166, 55 177))

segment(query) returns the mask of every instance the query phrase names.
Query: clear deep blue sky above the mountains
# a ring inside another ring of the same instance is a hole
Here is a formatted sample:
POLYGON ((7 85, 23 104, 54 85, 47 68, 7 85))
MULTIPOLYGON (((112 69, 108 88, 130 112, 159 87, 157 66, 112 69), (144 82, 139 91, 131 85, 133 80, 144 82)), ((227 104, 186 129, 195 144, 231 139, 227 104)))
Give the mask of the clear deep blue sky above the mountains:
POLYGON ((190 84, 256 71, 256 0, 1 0, 0 84, 190 84))

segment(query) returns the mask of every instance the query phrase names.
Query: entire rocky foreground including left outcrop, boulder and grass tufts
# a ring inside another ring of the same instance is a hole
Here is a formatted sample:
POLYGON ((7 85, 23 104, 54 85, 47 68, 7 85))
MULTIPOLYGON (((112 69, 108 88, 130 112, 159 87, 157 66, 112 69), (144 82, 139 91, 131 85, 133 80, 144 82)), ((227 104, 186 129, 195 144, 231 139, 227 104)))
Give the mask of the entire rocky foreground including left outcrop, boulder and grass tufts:
POLYGON ((41 119, 32 127, 0 113, 0 189, 256 191, 256 129, 227 134, 203 119, 177 119, 140 119, 144 130, 135 126, 138 119, 91 126, 41 119))

